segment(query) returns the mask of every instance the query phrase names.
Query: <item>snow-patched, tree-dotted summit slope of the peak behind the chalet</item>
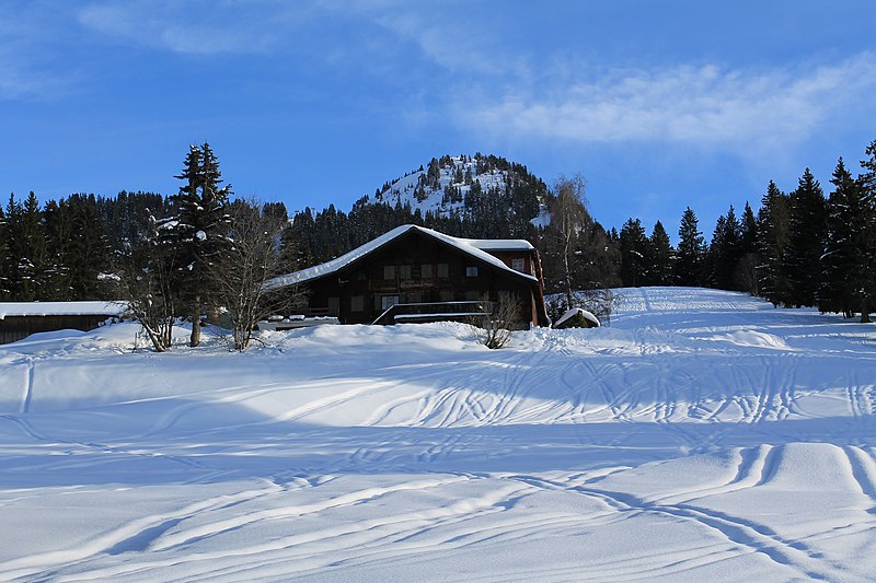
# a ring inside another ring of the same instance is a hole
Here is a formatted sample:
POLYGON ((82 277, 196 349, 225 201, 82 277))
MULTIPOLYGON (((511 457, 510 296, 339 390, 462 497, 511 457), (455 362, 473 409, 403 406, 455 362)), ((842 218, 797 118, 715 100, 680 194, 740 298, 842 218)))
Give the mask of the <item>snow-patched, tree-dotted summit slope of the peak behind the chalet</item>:
POLYGON ((393 207, 410 205, 412 211, 419 210, 424 217, 427 212, 436 217, 450 217, 454 213, 464 214, 477 203, 472 200, 472 194, 510 199, 509 189, 523 188, 527 191, 516 197, 515 202, 520 205, 521 200, 525 201, 521 206, 531 214, 528 219, 537 226, 546 226, 550 223, 546 185, 532 176, 526 166, 480 153, 474 156, 462 154, 433 159, 419 170, 384 183, 374 193, 373 201, 393 207))

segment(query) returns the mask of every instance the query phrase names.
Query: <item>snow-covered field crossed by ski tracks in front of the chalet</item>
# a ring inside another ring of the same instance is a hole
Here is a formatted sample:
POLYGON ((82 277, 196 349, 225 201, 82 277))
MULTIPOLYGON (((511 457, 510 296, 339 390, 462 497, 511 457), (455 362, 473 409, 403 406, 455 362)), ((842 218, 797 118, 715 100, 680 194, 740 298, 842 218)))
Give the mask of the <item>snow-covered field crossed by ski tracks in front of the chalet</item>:
POLYGON ((876 327, 624 294, 498 351, 452 324, 0 347, 0 580, 875 579, 876 327))

